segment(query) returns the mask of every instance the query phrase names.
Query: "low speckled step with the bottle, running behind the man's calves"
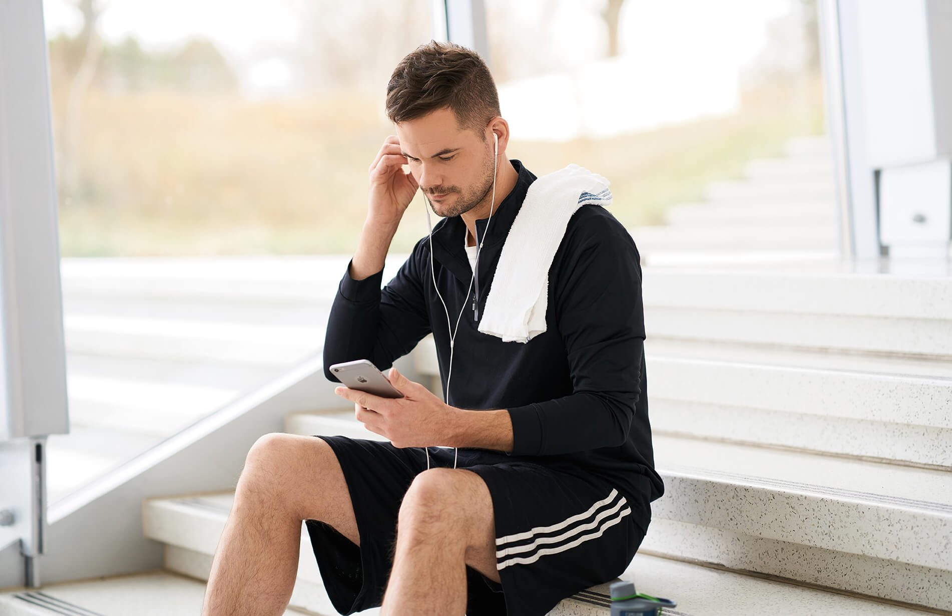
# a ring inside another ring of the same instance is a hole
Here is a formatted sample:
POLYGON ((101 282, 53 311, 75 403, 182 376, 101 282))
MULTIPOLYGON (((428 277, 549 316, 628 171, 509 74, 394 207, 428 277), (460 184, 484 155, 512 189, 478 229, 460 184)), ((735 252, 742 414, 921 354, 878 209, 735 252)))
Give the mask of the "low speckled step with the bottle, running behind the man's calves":
MULTIPOLYGON (((233 494, 228 492, 146 501, 146 519, 149 521, 146 533, 150 538, 166 543, 167 569, 199 580, 208 579, 213 549, 217 546, 232 502, 233 494)), ((300 550, 298 578, 290 605, 322 614, 336 613, 324 594, 306 529, 302 530, 300 550)), ((860 597, 847 597, 643 553, 635 556, 621 579, 634 581, 643 592, 677 601, 677 608, 665 610, 671 614, 778 613, 780 606, 791 602, 824 605, 837 614, 905 614, 912 611, 903 606, 889 606, 860 597)), ((549 612, 549 616, 604 614, 607 586, 593 586, 565 599, 549 612)), ((377 612, 372 609, 362 613, 377 612)))

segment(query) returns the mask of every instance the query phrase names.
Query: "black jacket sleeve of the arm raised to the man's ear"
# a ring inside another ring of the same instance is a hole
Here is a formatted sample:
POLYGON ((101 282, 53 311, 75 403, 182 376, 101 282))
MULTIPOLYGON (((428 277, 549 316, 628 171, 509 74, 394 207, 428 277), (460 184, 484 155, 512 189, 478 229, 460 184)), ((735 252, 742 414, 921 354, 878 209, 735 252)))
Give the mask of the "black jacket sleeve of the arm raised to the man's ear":
POLYGON ((327 319, 324 374, 328 380, 339 382, 329 367, 341 362, 368 359, 378 369, 390 368, 429 333, 424 292, 428 278, 420 267, 426 257, 423 244, 424 240, 417 242, 383 289, 383 269, 354 280, 347 264, 327 319))

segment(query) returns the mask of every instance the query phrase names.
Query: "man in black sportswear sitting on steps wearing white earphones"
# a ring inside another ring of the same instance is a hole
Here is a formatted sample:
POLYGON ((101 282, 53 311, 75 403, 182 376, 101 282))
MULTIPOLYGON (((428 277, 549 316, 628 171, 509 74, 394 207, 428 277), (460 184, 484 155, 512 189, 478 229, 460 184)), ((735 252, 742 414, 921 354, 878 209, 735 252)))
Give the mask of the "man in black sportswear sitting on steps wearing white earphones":
POLYGON ((408 54, 387 86, 387 114, 397 134, 369 168, 325 371, 336 380, 328 367, 356 359, 389 368, 432 332, 448 399, 391 369, 404 398, 335 390, 390 442, 259 439, 212 564, 207 615, 282 613, 302 520, 341 613, 382 604, 387 616, 542 615, 625 570, 664 492, 631 236, 605 209, 579 208, 549 268, 545 332, 525 344, 482 333, 486 291, 506 275, 496 265, 536 176, 506 158, 496 87, 470 50, 431 42, 408 54), (381 289, 417 189, 445 218, 381 289), (458 458, 441 447, 459 447, 458 458))

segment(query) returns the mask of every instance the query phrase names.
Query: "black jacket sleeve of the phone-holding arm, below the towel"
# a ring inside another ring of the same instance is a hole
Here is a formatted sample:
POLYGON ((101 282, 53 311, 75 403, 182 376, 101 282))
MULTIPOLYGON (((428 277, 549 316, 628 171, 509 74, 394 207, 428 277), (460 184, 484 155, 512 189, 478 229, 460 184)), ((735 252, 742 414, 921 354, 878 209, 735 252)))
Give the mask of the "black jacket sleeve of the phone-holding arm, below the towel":
POLYGON ((619 447, 627 439, 641 394, 642 269, 631 235, 605 214, 579 221, 566 238, 566 265, 550 282, 572 394, 508 409, 514 455, 619 447))

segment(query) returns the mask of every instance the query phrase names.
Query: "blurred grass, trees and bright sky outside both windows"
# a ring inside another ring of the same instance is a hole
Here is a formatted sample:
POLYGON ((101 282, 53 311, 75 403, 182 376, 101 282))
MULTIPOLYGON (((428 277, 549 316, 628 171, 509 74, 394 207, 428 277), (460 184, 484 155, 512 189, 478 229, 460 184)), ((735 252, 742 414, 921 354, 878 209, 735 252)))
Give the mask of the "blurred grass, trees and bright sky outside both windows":
MULTIPOLYGON (((47 0, 64 256, 353 249, 387 79, 430 0, 47 0)), ((487 0, 537 175, 612 181, 629 227, 823 131, 812 0, 487 0)), ((426 233, 418 198, 394 248, 426 233)))

